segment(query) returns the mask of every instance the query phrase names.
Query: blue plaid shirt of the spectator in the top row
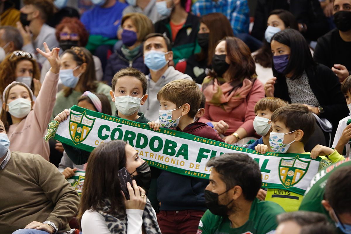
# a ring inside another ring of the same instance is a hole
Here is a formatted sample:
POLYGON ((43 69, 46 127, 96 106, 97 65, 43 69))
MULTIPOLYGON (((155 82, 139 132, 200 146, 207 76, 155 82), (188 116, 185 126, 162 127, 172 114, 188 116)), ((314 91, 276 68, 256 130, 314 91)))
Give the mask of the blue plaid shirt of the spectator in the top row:
POLYGON ((197 16, 222 13, 230 21, 234 35, 249 33, 250 10, 247 0, 198 0, 191 11, 197 16))

